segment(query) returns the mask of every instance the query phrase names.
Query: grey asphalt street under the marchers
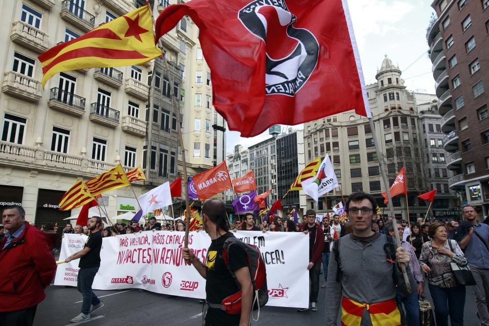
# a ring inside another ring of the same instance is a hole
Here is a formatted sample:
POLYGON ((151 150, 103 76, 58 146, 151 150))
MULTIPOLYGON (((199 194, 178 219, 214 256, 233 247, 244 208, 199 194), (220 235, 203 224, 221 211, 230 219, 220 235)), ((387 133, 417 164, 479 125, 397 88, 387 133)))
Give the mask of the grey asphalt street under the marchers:
MULTIPOLYGON (((94 292, 101 298, 105 306, 93 313, 91 319, 87 321, 70 323, 70 319, 80 312, 81 294, 74 287, 49 286, 46 289, 46 299, 38 305, 34 325, 202 325, 202 304, 199 304, 196 299, 169 297, 146 291, 138 292, 137 289, 95 290, 94 292)), ((431 301, 429 293, 427 297, 431 301)), ((297 312, 295 308, 266 306, 261 311, 259 321, 252 322, 251 325, 323 325, 325 290, 322 288, 318 301, 318 311, 315 312, 297 312)), ((478 325, 475 310, 472 289, 467 287, 464 325, 478 325)))

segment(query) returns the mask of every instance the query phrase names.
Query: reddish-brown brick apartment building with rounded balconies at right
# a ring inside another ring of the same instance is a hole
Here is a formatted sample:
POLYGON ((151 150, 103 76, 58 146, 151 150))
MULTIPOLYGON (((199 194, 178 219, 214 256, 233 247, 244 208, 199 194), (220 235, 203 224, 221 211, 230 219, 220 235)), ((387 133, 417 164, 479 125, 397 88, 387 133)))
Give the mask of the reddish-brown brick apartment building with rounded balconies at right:
POLYGON ((489 1, 435 0, 426 39, 442 116, 449 187, 489 214, 489 1))

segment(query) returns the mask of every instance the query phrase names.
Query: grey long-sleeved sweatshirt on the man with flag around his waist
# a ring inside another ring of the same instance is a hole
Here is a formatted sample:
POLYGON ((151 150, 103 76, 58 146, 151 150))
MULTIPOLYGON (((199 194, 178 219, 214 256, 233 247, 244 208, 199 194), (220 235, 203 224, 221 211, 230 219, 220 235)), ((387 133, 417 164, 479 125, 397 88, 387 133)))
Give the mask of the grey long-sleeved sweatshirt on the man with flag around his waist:
MULTIPOLYGON (((341 282, 336 282, 337 263, 334 251, 331 252, 326 283, 326 325, 336 326, 341 297, 344 296, 361 304, 376 304, 396 297, 393 281, 394 264, 386 261, 384 251, 386 237, 381 235, 364 246, 351 235, 340 238, 339 255, 341 282)), ((399 268, 399 267, 397 267, 399 268)), ((408 275, 411 274, 409 266, 408 275)), ((416 290, 416 282, 410 275, 411 289, 416 290)), ((362 315, 362 326, 371 326, 369 312, 362 315)))

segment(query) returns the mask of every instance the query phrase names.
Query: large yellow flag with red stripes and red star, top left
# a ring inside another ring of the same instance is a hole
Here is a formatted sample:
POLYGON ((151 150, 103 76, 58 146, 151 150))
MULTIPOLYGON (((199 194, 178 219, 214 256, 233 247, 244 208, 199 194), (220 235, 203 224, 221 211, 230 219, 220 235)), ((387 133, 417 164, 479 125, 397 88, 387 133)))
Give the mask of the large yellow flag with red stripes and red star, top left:
POLYGON ((61 71, 142 65, 161 53, 155 46, 151 11, 145 5, 41 53, 41 84, 44 88, 61 71))

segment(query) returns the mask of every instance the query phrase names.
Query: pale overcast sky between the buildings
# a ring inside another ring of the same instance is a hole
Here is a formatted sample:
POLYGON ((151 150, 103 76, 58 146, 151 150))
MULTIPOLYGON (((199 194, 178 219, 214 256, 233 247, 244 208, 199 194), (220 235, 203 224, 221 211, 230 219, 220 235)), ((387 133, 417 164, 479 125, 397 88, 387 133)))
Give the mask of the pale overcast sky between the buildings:
MULTIPOLYGON (((362 61, 365 82, 376 82, 377 68, 387 54, 402 71, 409 90, 434 93, 435 81, 428 58, 426 28, 434 12, 426 0, 348 0, 362 61)), ((286 128, 283 126, 282 129, 286 128)), ((226 152, 244 148, 269 137, 268 130, 252 138, 226 132, 226 152)))

